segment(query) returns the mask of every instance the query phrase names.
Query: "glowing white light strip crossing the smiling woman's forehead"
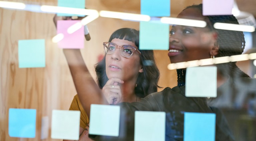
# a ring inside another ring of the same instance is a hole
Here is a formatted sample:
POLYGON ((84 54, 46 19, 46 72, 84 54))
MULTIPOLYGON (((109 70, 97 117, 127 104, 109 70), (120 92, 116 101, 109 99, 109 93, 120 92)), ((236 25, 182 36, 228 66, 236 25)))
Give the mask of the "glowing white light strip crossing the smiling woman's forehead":
POLYGON ((161 23, 170 24, 170 25, 181 25, 181 26, 201 27, 201 28, 206 27, 206 22, 200 21, 200 20, 162 17, 160 21, 161 23))

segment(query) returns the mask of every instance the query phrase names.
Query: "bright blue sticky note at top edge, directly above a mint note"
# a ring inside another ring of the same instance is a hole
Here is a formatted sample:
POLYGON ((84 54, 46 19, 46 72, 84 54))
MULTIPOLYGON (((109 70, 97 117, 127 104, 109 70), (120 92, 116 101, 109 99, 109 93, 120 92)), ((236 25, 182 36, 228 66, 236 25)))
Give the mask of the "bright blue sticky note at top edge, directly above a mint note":
POLYGON ((170 0, 141 0, 140 13, 151 17, 169 17, 171 13, 170 0))

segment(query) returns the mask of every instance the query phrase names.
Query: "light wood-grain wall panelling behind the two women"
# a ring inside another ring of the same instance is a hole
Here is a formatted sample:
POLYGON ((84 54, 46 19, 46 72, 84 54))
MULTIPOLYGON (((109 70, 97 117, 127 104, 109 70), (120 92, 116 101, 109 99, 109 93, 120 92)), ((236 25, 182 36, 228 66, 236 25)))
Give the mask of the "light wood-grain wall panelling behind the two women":
MULTIPOLYGON (((86 0, 86 7, 96 10, 140 13, 139 0, 119 0, 119 3, 117 1, 86 0)), ((23 0, 18 2, 57 5, 57 0, 23 0)), ((187 5, 200 2, 199 0, 172 0, 172 16, 175 17, 175 14, 177 15, 187 5)), ((51 42, 51 38, 56 35, 56 29, 52 22, 53 17, 54 14, 0 8, 0 141, 40 140, 41 118, 48 116, 49 127, 51 127, 52 110, 69 109, 76 94, 62 49, 51 42), (18 67, 18 40, 21 39, 45 39, 45 68, 18 67), (33 108, 37 110, 35 138, 11 138, 9 136, 9 108, 33 108)), ((99 17, 88 24, 92 39, 85 41, 85 48, 81 49, 81 52, 95 80, 94 64, 97 63, 98 55, 103 54, 102 42, 108 41, 109 36, 115 30, 123 27, 139 29, 139 23, 99 17)), ((167 69, 167 64, 170 63, 167 52, 154 51, 157 66, 160 69, 159 86, 163 88, 177 85, 176 71, 167 69)), ((46 140, 55 141, 50 136, 51 130, 49 129, 49 136, 46 140)))

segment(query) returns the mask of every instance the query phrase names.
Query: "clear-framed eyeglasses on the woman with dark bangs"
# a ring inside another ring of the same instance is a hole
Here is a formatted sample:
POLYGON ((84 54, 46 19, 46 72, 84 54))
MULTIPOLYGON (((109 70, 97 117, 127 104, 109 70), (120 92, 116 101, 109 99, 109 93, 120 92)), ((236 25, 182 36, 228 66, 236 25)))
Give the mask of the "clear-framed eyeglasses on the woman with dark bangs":
POLYGON ((139 54, 141 54, 137 48, 130 45, 118 46, 113 42, 103 42, 103 46, 107 54, 113 54, 117 48, 119 48, 120 54, 126 58, 131 57, 134 51, 137 51, 139 54))

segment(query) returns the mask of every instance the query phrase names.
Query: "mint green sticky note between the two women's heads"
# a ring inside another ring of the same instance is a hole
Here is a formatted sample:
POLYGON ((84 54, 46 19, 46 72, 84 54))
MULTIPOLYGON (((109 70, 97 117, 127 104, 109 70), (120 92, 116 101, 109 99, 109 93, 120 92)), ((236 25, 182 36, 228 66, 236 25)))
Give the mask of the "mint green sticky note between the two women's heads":
POLYGON ((158 22, 140 22, 141 50, 168 50, 169 25, 158 22))

